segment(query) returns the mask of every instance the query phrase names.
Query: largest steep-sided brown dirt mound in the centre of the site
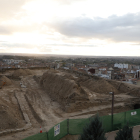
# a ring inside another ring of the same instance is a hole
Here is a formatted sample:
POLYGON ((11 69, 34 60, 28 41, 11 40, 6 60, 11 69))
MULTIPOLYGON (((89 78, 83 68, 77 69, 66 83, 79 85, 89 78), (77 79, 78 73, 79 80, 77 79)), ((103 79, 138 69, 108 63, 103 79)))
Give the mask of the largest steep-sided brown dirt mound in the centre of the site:
POLYGON ((64 107, 69 103, 75 103, 76 100, 88 100, 86 93, 74 80, 65 79, 64 76, 55 73, 44 73, 40 79, 40 85, 64 107))

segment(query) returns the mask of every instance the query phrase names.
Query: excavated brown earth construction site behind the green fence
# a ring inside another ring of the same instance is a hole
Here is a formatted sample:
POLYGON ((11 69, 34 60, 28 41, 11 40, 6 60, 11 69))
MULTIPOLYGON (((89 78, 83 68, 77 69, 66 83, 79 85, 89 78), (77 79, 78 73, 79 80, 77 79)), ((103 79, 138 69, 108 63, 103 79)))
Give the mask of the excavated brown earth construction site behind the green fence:
MULTIPOLYGON (((140 87, 72 70, 17 69, 0 73, 0 137, 22 140, 68 118, 140 108, 140 87)), ((73 136, 63 140, 75 139, 73 136)))

